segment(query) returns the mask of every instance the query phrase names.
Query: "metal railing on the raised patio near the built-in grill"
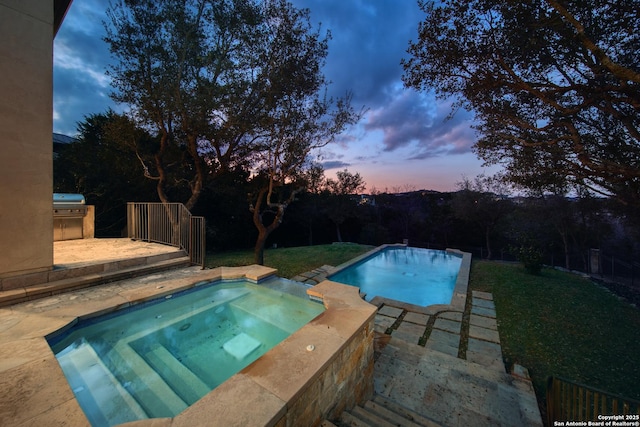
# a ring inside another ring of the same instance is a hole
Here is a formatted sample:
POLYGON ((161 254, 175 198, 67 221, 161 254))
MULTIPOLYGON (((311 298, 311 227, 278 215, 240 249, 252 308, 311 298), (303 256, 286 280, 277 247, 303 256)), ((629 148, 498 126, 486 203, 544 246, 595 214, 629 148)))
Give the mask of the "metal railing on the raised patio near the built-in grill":
POLYGON ((204 268, 205 220, 193 216, 182 203, 127 203, 128 237, 178 247, 191 264, 204 268))

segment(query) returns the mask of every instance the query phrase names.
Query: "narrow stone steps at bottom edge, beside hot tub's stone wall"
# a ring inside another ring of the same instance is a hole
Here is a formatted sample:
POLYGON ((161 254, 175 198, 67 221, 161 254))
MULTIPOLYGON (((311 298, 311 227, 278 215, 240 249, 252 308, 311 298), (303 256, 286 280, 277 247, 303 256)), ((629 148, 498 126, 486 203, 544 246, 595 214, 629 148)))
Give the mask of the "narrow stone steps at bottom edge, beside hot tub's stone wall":
POLYGON ((340 416, 341 427, 438 427, 440 424, 416 414, 401 405, 374 396, 364 406, 356 406, 340 416))

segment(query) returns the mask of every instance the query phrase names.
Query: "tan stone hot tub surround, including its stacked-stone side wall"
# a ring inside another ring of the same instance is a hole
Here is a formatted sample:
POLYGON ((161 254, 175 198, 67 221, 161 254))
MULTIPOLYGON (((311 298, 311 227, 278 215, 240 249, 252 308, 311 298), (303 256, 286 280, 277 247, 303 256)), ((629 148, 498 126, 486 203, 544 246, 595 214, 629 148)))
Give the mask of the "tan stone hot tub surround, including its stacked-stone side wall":
MULTIPOLYGON (((191 270, 188 277, 116 282, 37 307, 0 309, 0 425, 88 425, 45 336, 78 317, 110 312, 195 286, 203 280, 260 280, 273 269, 249 266, 191 270), (89 299, 89 300, 87 300, 89 299)), ((174 418, 129 426, 319 425, 373 393, 376 307, 358 289, 325 281, 309 294, 326 310, 268 353, 174 418), (313 345, 313 350, 307 348, 313 345)))

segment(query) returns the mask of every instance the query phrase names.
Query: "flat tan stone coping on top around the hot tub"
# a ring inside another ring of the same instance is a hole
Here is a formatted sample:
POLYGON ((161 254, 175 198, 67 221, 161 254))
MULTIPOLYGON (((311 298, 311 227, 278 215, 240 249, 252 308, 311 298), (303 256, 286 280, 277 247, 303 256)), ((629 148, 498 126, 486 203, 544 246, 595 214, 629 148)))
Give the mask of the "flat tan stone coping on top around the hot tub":
MULTIPOLYGON (((263 266, 187 269, 182 277, 114 282, 37 302, 0 308, 0 425, 89 425, 45 337, 76 319, 93 317, 189 289, 204 281, 272 275, 263 266), (129 282, 132 283, 128 286, 129 282)), ((173 273, 180 276, 180 273, 173 273)), ((135 426, 271 426, 285 416, 376 307, 357 288, 325 281, 309 291, 326 310, 261 358, 174 418, 135 426), (307 346, 313 345, 313 351, 307 346)))

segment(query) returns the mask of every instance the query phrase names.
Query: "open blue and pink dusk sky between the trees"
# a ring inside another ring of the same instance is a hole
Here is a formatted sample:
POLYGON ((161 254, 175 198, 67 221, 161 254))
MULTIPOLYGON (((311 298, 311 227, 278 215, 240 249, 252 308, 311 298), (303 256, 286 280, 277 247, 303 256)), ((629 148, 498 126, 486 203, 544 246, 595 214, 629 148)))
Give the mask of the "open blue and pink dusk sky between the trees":
MULTIPOLYGON (((348 169, 360 173, 367 190, 452 191, 463 176, 482 168, 471 152, 472 115, 431 93, 402 84, 400 60, 424 19, 416 0, 293 0, 311 10, 314 24, 330 30, 324 69, 334 96, 353 93, 352 105, 368 109, 360 123, 322 151, 327 176, 348 169)), ((123 111, 110 98, 105 75, 112 61, 102 40, 106 0, 73 0, 54 42, 54 132, 73 136, 85 116, 108 108, 123 111)))

